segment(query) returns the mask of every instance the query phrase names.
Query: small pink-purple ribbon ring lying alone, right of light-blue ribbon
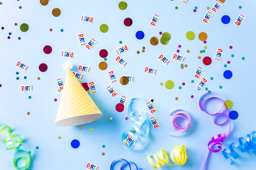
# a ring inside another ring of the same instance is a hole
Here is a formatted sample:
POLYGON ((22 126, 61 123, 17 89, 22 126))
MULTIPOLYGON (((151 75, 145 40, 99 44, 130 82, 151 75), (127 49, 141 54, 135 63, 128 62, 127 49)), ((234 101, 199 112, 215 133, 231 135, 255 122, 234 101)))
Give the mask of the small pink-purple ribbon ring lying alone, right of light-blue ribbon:
POLYGON ((184 134, 191 124, 191 118, 189 116, 189 113, 187 113, 184 110, 178 109, 178 110, 174 110, 172 113, 170 113, 170 115, 173 115, 173 117, 171 119, 171 128, 175 132, 179 132, 179 134, 171 135, 171 136, 180 136, 180 135, 184 134), (185 119, 186 125, 185 126, 177 125, 177 118, 185 119))

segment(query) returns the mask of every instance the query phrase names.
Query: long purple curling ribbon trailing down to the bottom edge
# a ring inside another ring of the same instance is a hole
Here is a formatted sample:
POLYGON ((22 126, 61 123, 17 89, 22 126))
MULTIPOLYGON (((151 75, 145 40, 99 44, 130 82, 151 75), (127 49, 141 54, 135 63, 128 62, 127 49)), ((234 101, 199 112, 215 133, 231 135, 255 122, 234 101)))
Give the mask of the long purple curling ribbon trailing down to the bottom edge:
MULTIPOLYGON (((216 92, 204 93, 201 96, 201 98, 199 99, 199 106, 200 106, 202 111, 204 111, 205 113, 213 116, 213 123, 214 124, 224 125, 227 122, 229 122, 229 109, 228 109, 227 105, 225 104, 224 100, 221 98, 221 96, 218 93, 216 93, 216 92), (221 102, 221 107, 216 105, 215 108, 220 107, 219 111, 217 111, 217 113, 210 113, 209 109, 207 110, 207 106, 210 105, 211 102, 214 102, 214 101, 221 102), (220 117, 224 117, 225 118, 224 121, 218 122, 218 118, 220 118, 220 117)), ((207 159, 209 157, 210 152, 220 152, 220 150, 222 150, 222 144, 220 142, 222 142, 224 139, 227 138, 227 136, 230 133, 230 130, 231 130, 231 124, 229 122, 229 130, 226 134, 222 133, 222 134, 214 135, 211 138, 211 140, 208 143, 209 152, 208 152, 207 157, 204 161, 203 170, 206 166, 207 159)))

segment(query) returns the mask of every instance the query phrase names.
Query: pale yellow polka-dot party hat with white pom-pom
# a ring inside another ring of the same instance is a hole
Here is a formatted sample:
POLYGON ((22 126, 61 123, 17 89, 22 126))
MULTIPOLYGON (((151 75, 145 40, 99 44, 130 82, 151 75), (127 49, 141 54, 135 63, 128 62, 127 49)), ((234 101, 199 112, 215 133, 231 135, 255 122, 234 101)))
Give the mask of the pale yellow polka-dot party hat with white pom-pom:
POLYGON ((65 63, 63 67, 67 69, 67 76, 55 124, 58 126, 77 126, 99 119, 102 113, 70 70, 72 63, 65 63))

